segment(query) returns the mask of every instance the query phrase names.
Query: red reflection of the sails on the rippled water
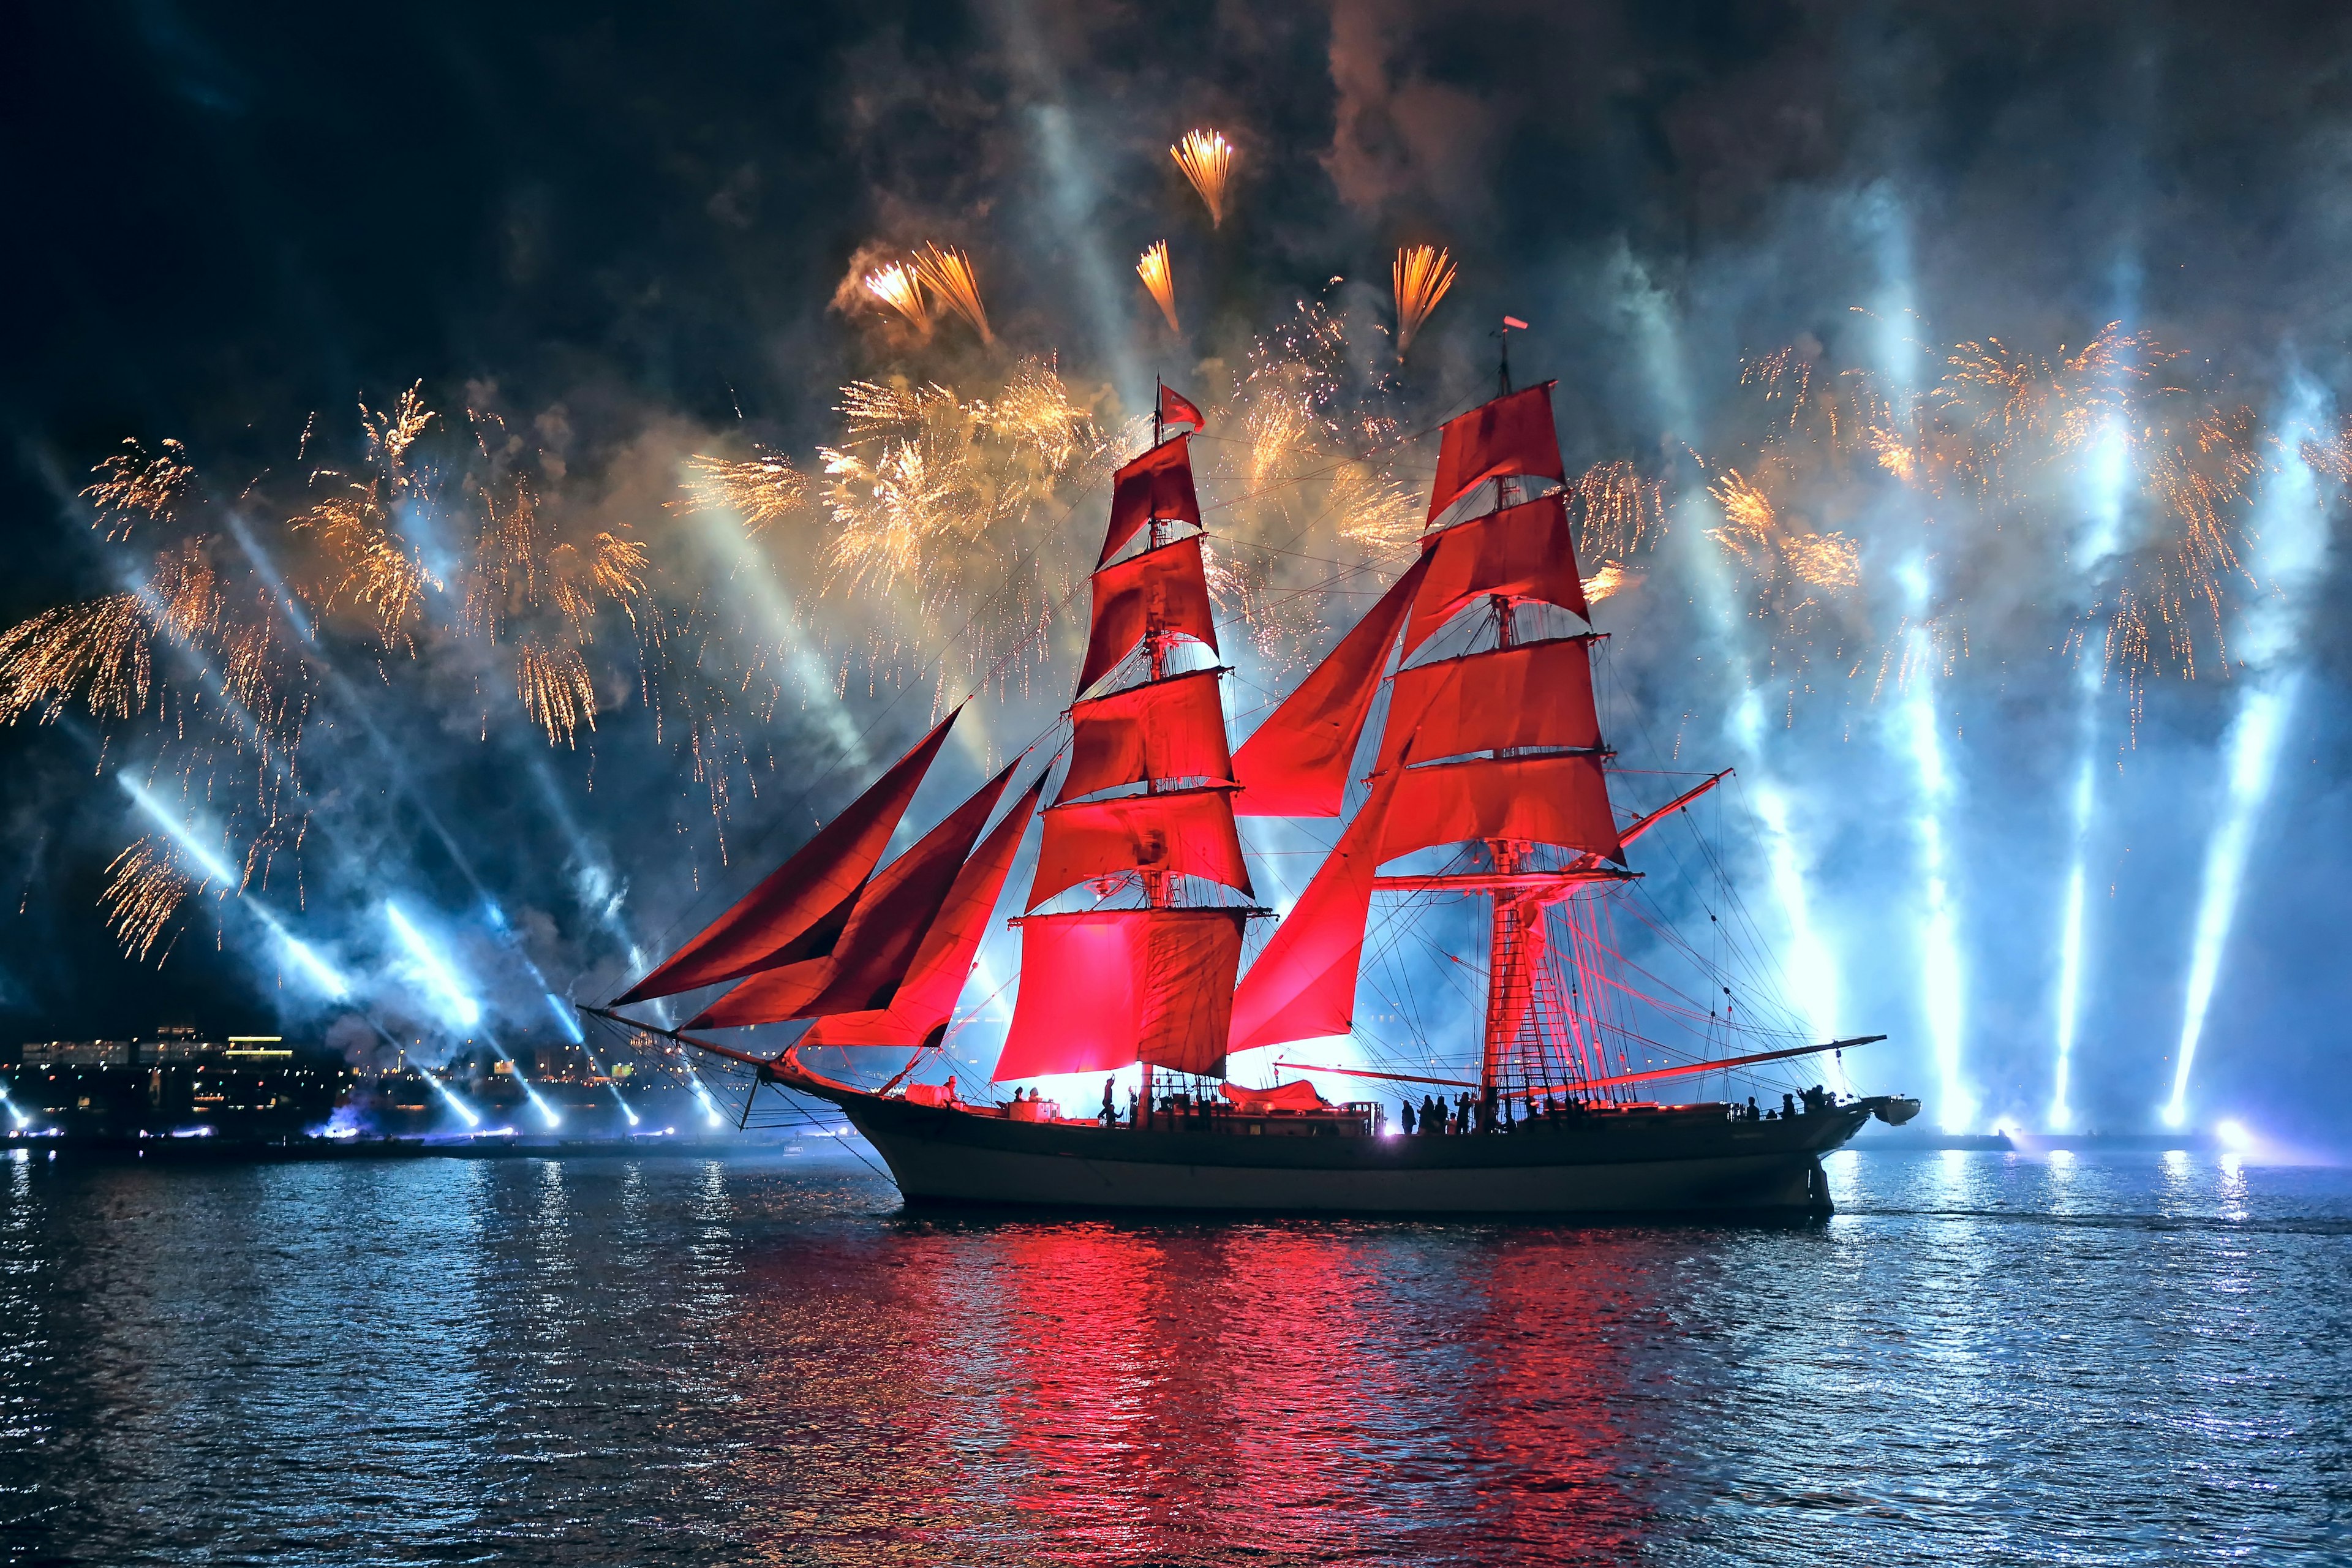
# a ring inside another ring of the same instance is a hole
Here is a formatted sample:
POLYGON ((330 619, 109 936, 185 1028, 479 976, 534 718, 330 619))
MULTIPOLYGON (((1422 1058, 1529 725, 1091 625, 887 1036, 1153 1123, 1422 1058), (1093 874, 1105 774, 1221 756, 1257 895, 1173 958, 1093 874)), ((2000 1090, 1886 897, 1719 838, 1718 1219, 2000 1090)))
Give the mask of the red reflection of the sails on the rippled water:
POLYGON ((1004 1222, 746 1284, 771 1547, 1557 1563, 1649 1516, 1625 1354, 1670 1326, 1573 1232, 1004 1222))

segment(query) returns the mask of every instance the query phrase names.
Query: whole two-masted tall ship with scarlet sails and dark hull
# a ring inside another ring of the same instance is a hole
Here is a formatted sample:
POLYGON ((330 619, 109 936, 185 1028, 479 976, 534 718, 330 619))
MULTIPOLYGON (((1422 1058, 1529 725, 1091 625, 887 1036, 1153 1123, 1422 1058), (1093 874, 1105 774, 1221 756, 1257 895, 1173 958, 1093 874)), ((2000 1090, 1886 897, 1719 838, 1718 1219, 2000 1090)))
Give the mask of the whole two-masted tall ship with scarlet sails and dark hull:
POLYGON ((1550 383, 1505 383, 1442 425, 1418 559, 1240 750, 1202 567, 1200 425, 1162 388, 1152 447, 1112 480, 1068 738, 1011 806, 997 811, 1025 757, 882 865, 950 712, 731 910, 590 1011, 649 1027, 614 1009, 727 985, 673 1034, 748 1067, 748 1095, 776 1086, 837 1105, 910 1201, 1825 1213, 1820 1154, 1870 1117, 1910 1119, 1917 1100, 1642 1095, 1865 1041, 1717 1056, 1726 1034, 1710 1009, 1700 1048, 1656 1065, 1675 1053, 1611 1006, 1628 980, 1599 940, 1602 900, 1637 877, 1632 844, 1724 773, 1630 820, 1611 802, 1592 693, 1599 632, 1550 383), (1169 435, 1169 423, 1185 428, 1169 435), (946 1046, 1033 816, 1040 846, 1011 922, 1018 997, 993 1077, 1141 1067, 1124 1103, 1105 1081, 1098 1112, 917 1081, 946 1046), (1345 818, 1247 971, 1249 922, 1270 914, 1237 816, 1345 818), (1383 926, 1458 900, 1482 917, 1475 1067, 1322 1067, 1381 1084, 1395 1110, 1327 1103, 1308 1079, 1232 1084, 1237 1053, 1357 1030, 1376 900, 1383 926), (779 1023, 809 1027, 776 1053, 708 1039, 779 1023), (1635 1070, 1628 1046, 1651 1065, 1635 1070), (877 1067, 835 1077, 811 1058, 877 1067))

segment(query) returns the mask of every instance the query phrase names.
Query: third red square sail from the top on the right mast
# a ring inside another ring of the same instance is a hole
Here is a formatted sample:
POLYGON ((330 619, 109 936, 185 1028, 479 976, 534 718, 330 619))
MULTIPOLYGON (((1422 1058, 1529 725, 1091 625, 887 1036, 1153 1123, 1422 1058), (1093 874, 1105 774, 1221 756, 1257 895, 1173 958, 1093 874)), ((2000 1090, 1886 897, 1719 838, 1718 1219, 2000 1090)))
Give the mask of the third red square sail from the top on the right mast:
POLYGON ((1592 651, 1559 637, 1397 670, 1374 771, 1395 766, 1406 741, 1430 762, 1522 745, 1595 750, 1592 651))

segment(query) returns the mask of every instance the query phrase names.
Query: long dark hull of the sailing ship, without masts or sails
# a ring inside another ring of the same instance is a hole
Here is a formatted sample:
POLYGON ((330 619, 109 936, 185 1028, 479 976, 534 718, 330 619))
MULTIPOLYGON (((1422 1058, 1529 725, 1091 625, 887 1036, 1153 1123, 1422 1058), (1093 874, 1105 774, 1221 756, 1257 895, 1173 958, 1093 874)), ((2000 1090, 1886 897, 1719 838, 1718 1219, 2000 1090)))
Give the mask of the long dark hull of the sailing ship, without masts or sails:
POLYGON ((1788 1121, 1621 1112, 1470 1138, 1244 1138, 826 1098, 889 1161, 910 1204, 1362 1215, 1823 1215, 1832 1199, 1820 1154, 1872 1112, 1870 1103, 1788 1121))

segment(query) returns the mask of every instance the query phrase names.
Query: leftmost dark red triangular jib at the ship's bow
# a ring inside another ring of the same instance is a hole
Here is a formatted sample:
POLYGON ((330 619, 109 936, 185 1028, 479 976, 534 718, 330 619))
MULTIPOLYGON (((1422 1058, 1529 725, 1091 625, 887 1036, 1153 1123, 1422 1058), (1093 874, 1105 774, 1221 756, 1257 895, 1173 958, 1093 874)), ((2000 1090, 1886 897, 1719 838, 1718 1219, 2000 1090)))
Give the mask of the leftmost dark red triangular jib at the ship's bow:
MULTIPOLYGON (((957 708, 957 712, 962 712, 957 708)), ((955 712, 938 722, 922 743, 901 757, 866 795, 847 811, 826 823, 814 839, 800 846, 790 860, 779 865, 767 879, 746 893, 731 910, 710 922, 691 943, 670 954, 654 973, 628 987, 619 1001, 649 1001, 673 997, 699 985, 717 985, 760 969, 779 969, 795 959, 830 952, 837 943, 826 943, 814 952, 795 947, 795 938, 811 926, 826 924, 840 905, 856 896, 858 884, 882 858, 889 835, 896 832, 906 804, 915 799, 915 788, 948 738, 955 712)), ((800 947, 809 947, 802 943, 800 947)))

